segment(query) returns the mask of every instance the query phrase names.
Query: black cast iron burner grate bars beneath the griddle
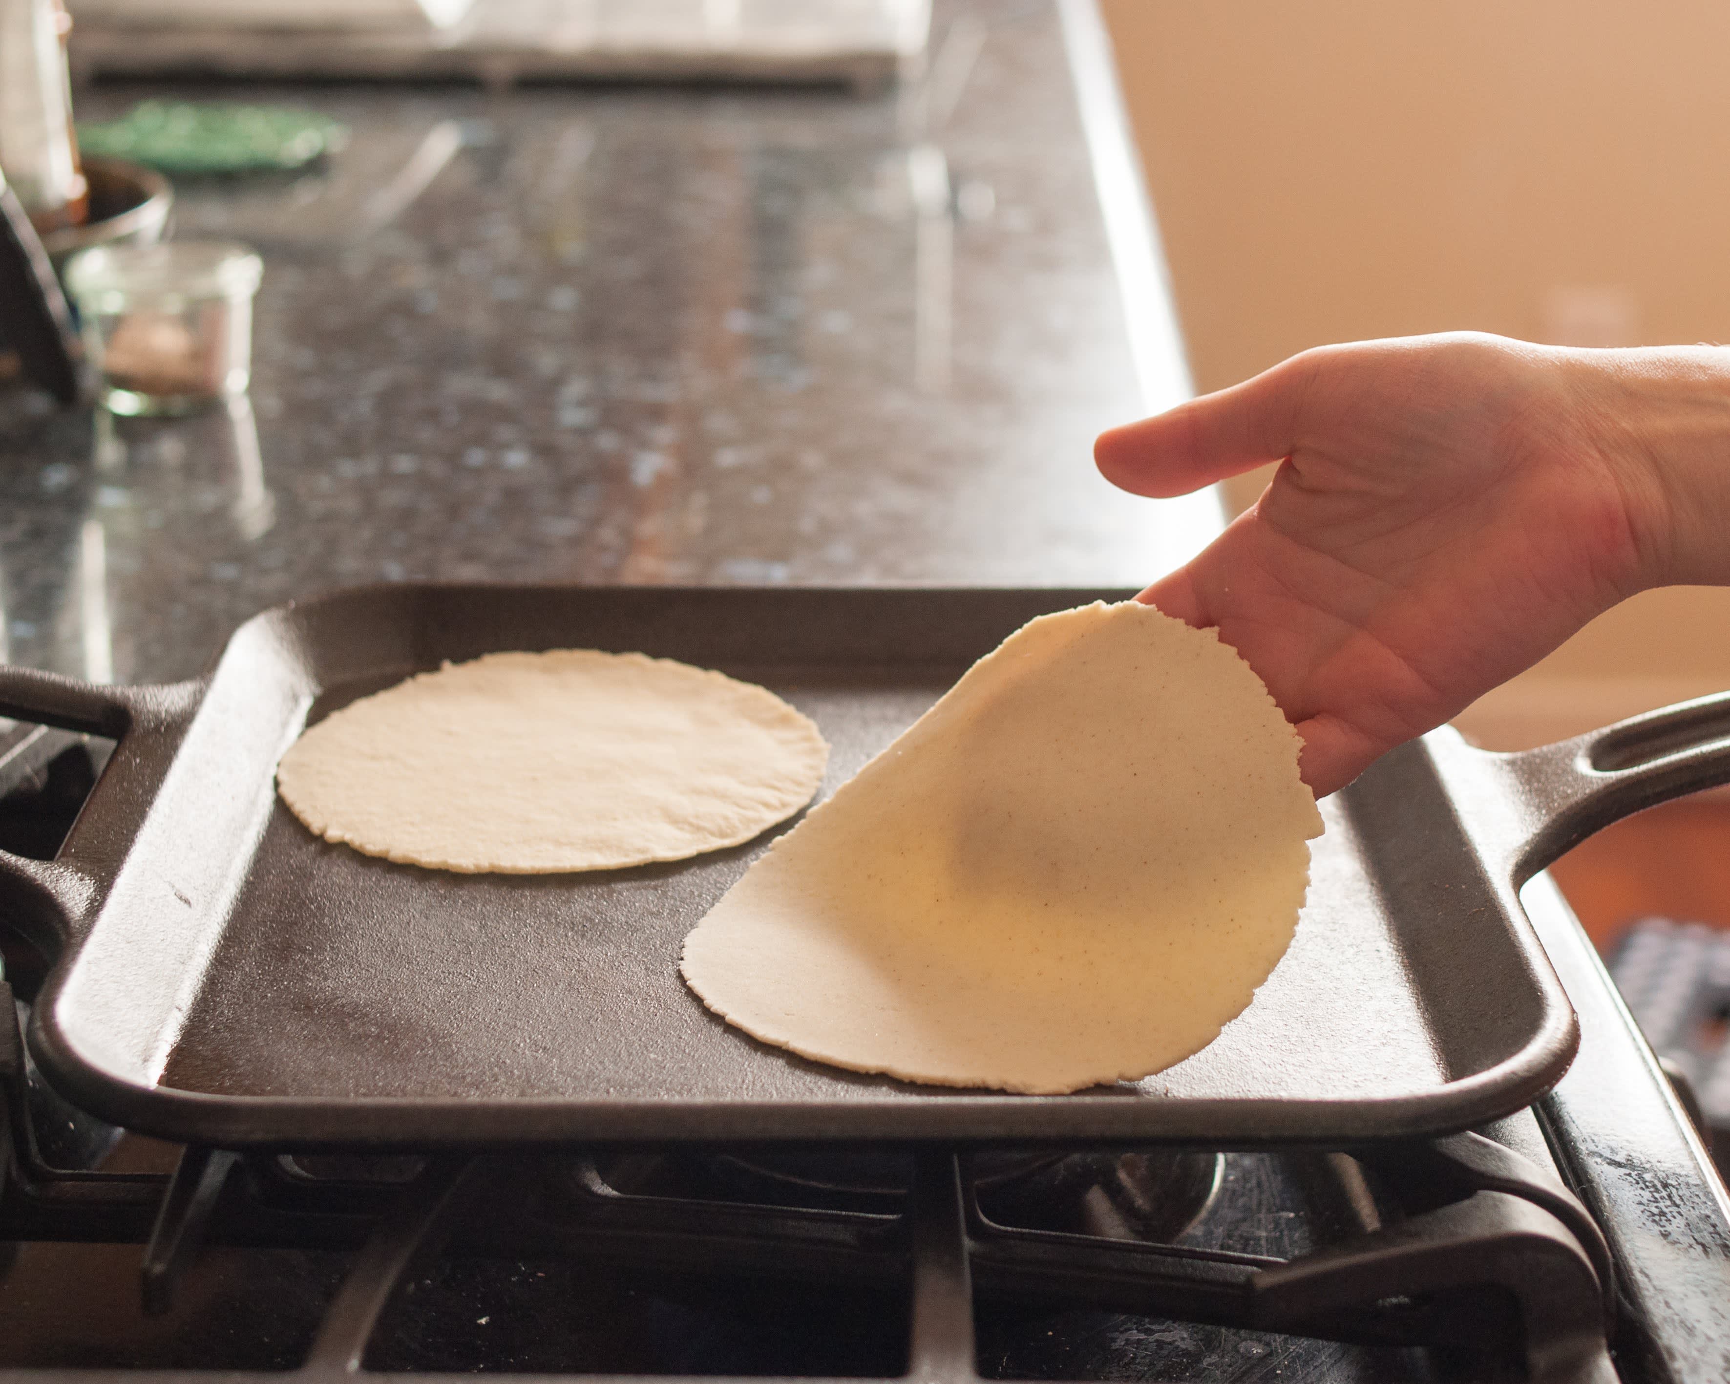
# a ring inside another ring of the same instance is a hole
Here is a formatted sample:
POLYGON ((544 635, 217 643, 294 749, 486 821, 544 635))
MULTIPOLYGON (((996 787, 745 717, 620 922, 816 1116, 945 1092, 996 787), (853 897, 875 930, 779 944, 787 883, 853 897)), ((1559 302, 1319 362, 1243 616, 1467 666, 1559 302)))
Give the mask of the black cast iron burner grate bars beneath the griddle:
MULTIPOLYGON (((413 1315, 403 1294, 431 1282, 427 1266, 452 1251, 522 1265, 581 1259, 618 1275, 725 1275, 801 1292, 846 1284, 877 1304, 905 1301, 900 1315, 893 1306, 874 1313, 905 1322, 905 1342, 855 1351, 855 1362, 886 1367, 863 1377, 977 1379, 979 1323, 990 1336, 991 1313, 1016 1304, 1426 1346, 1474 1377, 1614 1377, 1604 1348, 1611 1266, 1597 1227, 1552 1175, 1477 1135, 1355 1150, 1391 1190, 1396 1214, 1282 1259, 1003 1223, 972 1176, 976 1154, 950 1147, 910 1150, 898 1209, 623 1192, 606 1175, 609 1154, 593 1150, 315 1159, 192 1147, 168 1176, 57 1171, 38 1150, 17 1026, 0 1026, 0 1040, 9 1149, 0 1235, 142 1244, 138 1292, 156 1313, 215 1247, 346 1256, 310 1346, 285 1370, 306 1381, 382 1381, 403 1368, 455 1379, 401 1351, 405 1311, 413 1315), (533 1194, 547 1187, 557 1187, 554 1201, 533 1194)), ((230 1372, 237 1384, 282 1377, 230 1372)))

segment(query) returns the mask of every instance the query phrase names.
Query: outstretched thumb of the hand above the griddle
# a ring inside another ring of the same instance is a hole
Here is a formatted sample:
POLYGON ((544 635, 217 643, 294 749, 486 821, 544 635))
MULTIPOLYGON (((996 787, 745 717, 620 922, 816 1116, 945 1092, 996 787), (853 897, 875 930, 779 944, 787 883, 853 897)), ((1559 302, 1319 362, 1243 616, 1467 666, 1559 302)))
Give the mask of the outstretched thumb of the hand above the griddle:
POLYGON ((1100 432, 1093 460, 1114 486, 1161 498, 1277 462, 1298 446, 1320 360, 1306 351, 1230 389, 1100 432))

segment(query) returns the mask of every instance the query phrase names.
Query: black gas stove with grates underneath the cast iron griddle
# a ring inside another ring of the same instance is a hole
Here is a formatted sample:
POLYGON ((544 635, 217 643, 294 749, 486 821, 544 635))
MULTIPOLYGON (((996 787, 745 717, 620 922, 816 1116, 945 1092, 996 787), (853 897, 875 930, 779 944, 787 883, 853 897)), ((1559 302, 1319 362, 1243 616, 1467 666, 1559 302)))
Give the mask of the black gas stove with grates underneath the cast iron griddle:
MULTIPOLYGON (((52 855, 100 742, 0 739, 52 855)), ((1374 1147, 171 1147, 0 1022, 0 1374, 1438 1381, 1730 1377, 1730 1214, 1548 886, 1564 1081, 1374 1147)), ((22 1017, 40 977, 5 945, 22 1017)))

